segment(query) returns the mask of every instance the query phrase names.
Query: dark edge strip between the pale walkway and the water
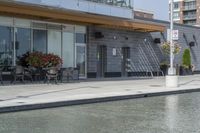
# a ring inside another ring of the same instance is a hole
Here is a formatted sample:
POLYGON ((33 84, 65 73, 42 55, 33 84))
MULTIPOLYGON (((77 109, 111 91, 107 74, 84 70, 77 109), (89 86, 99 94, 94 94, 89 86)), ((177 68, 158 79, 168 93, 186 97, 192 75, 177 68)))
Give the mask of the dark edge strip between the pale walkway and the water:
POLYGON ((184 94, 184 93, 192 93, 192 92, 200 92, 200 88, 185 89, 185 90, 173 90, 173 91, 166 91, 166 92, 133 94, 133 95, 124 95, 124 96, 111 96, 111 97, 92 98, 92 99, 59 101, 59 102, 51 102, 51 103, 19 105, 19 106, 10 106, 10 107, 0 107, 0 114, 20 112, 20 111, 38 110, 38 109, 47 109, 47 108, 57 108, 57 107, 64 107, 64 106, 75 106, 75 105, 120 101, 120 100, 137 99, 137 98, 184 94))

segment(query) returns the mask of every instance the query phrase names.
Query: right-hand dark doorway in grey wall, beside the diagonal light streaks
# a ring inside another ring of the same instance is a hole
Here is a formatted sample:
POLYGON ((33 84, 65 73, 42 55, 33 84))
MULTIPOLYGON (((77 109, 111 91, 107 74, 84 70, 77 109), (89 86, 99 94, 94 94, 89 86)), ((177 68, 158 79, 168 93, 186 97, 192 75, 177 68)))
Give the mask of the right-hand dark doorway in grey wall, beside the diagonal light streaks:
POLYGON ((130 47, 122 47, 122 76, 128 76, 128 64, 130 61, 130 47))

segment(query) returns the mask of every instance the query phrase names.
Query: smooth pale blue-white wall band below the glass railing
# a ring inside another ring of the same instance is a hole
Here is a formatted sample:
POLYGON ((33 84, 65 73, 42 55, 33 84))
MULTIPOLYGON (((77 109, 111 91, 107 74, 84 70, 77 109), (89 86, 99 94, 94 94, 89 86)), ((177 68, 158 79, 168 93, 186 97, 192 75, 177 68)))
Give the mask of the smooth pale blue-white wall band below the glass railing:
POLYGON ((58 8, 83 11, 88 13, 108 15, 122 18, 133 18, 132 9, 111 6, 85 0, 15 0, 32 4, 47 5, 58 8))

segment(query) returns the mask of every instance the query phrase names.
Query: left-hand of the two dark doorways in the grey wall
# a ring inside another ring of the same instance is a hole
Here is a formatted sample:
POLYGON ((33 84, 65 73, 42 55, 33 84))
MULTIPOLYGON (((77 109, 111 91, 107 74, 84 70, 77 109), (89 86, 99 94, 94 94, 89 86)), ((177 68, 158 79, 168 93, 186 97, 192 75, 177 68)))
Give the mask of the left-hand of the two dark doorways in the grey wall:
POLYGON ((107 47, 97 46, 97 77, 104 77, 107 66, 107 47))

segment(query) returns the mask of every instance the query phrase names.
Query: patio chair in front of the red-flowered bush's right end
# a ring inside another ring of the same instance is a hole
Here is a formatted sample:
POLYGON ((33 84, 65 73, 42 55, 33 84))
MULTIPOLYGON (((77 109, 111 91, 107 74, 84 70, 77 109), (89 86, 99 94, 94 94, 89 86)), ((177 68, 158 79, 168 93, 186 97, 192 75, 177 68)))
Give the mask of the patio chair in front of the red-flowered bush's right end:
POLYGON ((47 83, 50 83, 50 80, 52 79, 55 81, 55 83, 58 83, 58 68, 56 67, 48 68, 46 71, 47 83))

